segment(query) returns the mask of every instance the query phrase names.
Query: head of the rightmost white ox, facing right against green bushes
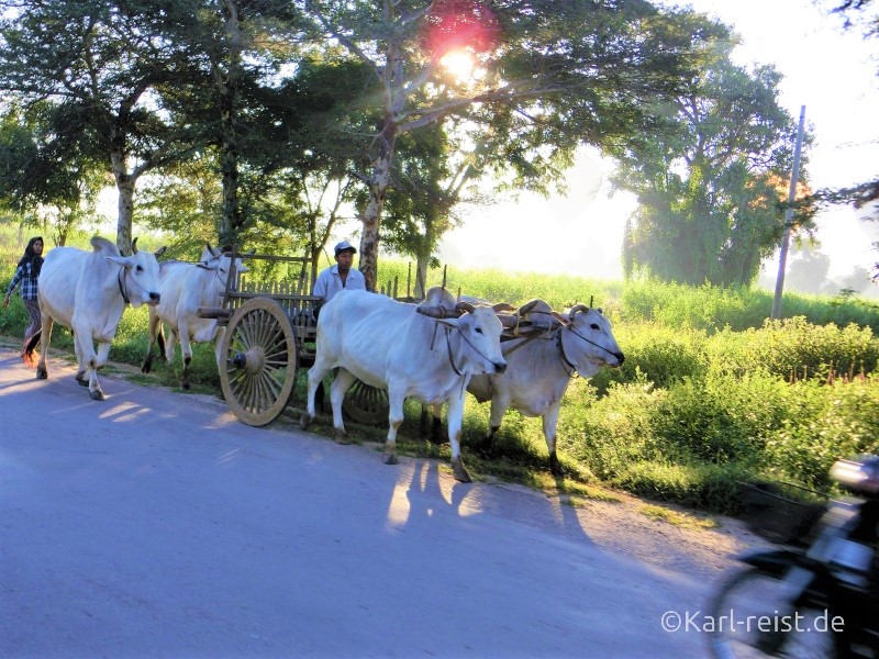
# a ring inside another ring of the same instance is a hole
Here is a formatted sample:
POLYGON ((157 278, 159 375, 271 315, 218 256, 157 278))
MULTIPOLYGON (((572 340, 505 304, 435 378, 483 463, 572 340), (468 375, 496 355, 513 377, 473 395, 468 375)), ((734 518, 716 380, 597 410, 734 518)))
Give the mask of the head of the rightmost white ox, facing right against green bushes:
POLYGON ((622 366, 625 359, 600 309, 577 304, 559 332, 563 356, 585 378, 594 376, 602 366, 622 366))

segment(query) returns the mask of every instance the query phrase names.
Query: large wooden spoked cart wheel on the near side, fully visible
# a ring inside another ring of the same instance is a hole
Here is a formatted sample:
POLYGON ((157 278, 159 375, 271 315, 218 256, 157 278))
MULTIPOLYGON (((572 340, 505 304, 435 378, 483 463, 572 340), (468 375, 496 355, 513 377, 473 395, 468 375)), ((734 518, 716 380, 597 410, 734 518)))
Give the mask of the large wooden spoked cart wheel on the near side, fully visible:
POLYGON ((296 383, 297 336, 287 312, 271 298, 247 300, 229 321, 220 383, 233 414, 263 426, 283 411, 296 383))

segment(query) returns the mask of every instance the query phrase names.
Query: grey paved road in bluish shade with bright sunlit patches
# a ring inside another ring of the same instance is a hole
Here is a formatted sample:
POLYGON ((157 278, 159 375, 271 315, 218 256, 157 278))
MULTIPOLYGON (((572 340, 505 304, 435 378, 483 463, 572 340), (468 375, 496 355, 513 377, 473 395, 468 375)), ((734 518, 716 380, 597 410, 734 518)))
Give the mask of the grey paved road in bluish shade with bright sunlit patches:
POLYGON ((694 657, 566 507, 0 349, 2 657, 694 657))

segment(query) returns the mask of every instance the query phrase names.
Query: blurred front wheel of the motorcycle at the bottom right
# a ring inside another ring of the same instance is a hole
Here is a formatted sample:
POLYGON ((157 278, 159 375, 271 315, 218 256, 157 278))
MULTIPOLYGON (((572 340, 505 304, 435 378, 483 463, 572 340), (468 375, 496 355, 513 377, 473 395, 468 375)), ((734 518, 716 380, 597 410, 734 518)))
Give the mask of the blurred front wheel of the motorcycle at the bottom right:
POLYGON ((712 602, 711 651, 719 659, 841 657, 824 610, 797 608, 778 576, 757 567, 734 574, 712 602))

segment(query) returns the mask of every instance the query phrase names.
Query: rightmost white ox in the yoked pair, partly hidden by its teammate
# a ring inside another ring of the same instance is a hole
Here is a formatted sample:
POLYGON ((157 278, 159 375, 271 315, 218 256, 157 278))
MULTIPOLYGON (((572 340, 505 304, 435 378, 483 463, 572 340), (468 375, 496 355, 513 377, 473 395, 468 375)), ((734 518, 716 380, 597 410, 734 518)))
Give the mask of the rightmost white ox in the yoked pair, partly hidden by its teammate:
MULTIPOLYGON (((560 324, 555 323, 555 328, 545 334, 504 342, 507 371, 474 376, 467 391, 479 402, 491 400, 489 443, 500 428, 508 407, 514 407, 525 416, 541 416, 549 450, 549 469, 558 476, 561 466, 556 455, 556 424, 571 377, 579 373, 582 378, 590 378, 602 366, 621 366, 624 356, 600 309, 578 304, 567 317, 553 315, 560 324)), ((434 418, 437 417, 438 410, 434 407, 434 418)))

